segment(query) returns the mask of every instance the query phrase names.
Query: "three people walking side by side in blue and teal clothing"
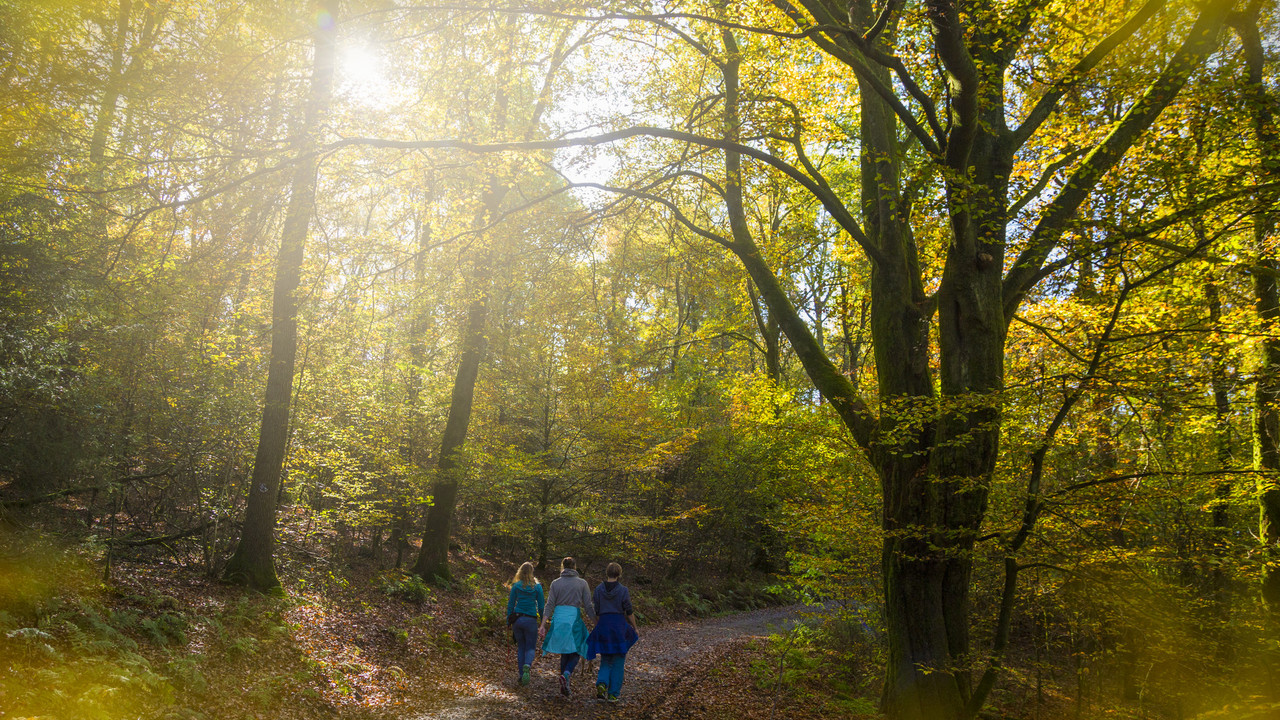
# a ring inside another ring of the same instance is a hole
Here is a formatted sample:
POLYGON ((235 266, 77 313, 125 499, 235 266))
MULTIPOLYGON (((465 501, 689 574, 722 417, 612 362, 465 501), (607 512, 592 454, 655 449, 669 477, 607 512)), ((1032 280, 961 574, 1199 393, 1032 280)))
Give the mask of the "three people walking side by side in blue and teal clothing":
POLYGON ((640 639, 631 591, 621 583, 622 566, 609 562, 605 579, 593 593, 577 573, 577 561, 561 561, 559 578, 552 582, 543 600, 543 587, 534 578, 534 565, 525 562, 512 578, 507 596, 507 624, 516 639, 516 666, 520 684, 529 684, 536 638, 543 638, 543 653, 558 653, 559 691, 570 696, 573 670, 584 657, 600 656, 595 676, 595 697, 617 702, 622 692, 626 653, 640 639), (540 623, 539 623, 540 618, 540 623), (586 623, 595 626, 590 634, 586 623))

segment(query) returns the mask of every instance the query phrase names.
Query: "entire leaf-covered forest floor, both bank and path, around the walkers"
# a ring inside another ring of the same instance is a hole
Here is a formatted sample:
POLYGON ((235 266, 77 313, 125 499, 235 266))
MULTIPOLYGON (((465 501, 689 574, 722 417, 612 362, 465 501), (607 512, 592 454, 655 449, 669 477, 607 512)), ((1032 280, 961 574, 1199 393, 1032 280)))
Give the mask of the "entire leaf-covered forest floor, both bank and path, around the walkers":
POLYGON ((561 697, 554 655, 517 685, 509 569, 477 555, 457 556, 453 582, 430 584, 296 552, 280 596, 262 596, 160 553, 104 579, 82 548, 0 544, 0 720, 876 716, 874 688, 819 657, 804 609, 760 607, 741 580, 717 591, 637 579, 641 639, 622 702, 608 705, 586 664, 561 697))

